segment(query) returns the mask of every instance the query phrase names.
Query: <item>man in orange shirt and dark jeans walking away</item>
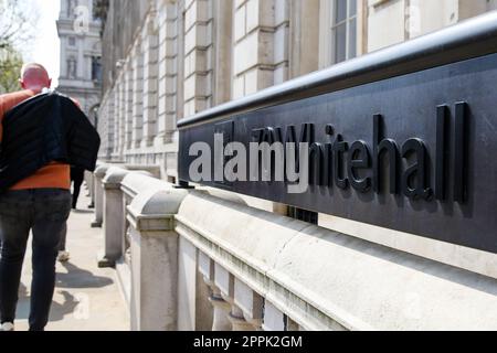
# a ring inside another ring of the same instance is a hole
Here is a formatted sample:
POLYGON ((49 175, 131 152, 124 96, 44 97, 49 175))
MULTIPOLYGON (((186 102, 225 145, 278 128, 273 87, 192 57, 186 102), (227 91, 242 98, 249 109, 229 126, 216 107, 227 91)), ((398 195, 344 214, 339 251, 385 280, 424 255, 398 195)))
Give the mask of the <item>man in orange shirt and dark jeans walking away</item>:
POLYGON ((32 231, 29 324, 31 331, 43 331, 61 234, 71 212, 70 164, 94 169, 99 138, 71 99, 42 93, 51 86, 43 66, 25 65, 20 83, 23 90, 0 96, 0 330, 14 329, 32 231))

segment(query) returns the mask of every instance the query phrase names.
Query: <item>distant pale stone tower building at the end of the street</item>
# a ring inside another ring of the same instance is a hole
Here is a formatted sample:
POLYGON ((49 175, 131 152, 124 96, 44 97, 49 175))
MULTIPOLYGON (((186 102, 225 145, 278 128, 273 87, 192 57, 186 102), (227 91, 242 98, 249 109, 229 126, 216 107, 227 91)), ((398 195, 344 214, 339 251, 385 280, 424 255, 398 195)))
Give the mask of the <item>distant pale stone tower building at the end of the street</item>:
POLYGON ((57 90, 77 99, 94 122, 102 92, 101 26, 101 21, 93 18, 93 0, 61 0, 57 90))

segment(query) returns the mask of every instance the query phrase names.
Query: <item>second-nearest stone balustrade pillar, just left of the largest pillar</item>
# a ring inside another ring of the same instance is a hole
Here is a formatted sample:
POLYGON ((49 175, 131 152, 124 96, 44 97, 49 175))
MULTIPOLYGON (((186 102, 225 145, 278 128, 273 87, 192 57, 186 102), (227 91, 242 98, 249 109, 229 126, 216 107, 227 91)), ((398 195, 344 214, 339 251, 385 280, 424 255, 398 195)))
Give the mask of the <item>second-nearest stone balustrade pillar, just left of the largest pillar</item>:
POLYGON ((123 256, 126 218, 123 212, 120 183, 128 173, 127 170, 113 167, 103 181, 105 248, 103 256, 99 257, 98 267, 114 267, 123 256))

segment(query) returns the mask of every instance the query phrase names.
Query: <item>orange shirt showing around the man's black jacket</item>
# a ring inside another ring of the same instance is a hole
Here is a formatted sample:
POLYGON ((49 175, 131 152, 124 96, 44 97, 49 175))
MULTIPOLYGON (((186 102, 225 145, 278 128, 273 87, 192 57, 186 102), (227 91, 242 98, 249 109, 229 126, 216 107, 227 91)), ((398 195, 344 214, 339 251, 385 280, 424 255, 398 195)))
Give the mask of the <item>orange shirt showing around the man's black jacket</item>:
MULTIPOLYGON (((0 95, 0 142, 2 140, 4 115, 18 104, 35 95, 32 90, 21 90, 7 95, 0 95)), ((10 190, 30 189, 71 189, 71 168, 67 164, 51 163, 43 167, 33 175, 21 180, 10 190)))

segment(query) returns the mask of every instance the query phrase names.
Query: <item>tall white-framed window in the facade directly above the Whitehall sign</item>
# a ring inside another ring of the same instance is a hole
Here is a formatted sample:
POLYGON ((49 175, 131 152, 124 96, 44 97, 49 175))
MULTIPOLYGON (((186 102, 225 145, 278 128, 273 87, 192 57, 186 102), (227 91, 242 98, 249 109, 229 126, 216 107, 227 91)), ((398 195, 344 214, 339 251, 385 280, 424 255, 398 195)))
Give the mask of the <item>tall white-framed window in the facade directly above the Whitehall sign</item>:
POLYGON ((331 63, 357 56, 357 0, 332 0, 331 63))

